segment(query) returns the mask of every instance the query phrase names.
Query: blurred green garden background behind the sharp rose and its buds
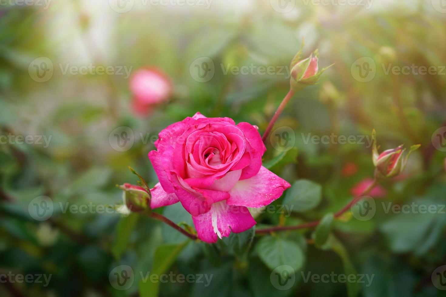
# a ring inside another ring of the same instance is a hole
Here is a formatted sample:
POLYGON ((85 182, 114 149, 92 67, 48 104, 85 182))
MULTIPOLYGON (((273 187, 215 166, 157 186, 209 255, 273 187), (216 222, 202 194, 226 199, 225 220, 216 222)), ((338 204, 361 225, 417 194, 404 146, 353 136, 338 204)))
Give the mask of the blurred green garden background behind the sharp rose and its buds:
POLYGON ((445 25, 443 0, 1 0, 0 295, 446 296, 445 25), (320 248, 308 229, 195 243, 122 213, 116 184, 136 183, 128 166, 157 183, 147 154, 169 124, 199 111, 263 133, 303 40, 335 65, 293 97, 264 164, 316 193, 292 187, 275 205, 311 205, 256 227, 342 208, 373 177, 374 128, 381 151, 421 148, 372 216, 347 213, 320 248))

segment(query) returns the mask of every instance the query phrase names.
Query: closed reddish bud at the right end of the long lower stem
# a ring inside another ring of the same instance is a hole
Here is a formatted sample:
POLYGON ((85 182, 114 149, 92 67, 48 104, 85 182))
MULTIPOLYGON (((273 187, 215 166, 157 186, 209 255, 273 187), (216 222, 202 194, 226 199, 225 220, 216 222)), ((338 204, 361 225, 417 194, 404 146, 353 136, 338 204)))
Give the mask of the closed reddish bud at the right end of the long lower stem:
POLYGON ((394 149, 389 149, 378 154, 378 148, 376 147, 376 132, 373 129, 373 164, 376 167, 377 177, 394 177, 399 175, 406 167, 407 160, 412 151, 420 147, 419 144, 410 147, 409 153, 403 157, 403 145, 394 149))

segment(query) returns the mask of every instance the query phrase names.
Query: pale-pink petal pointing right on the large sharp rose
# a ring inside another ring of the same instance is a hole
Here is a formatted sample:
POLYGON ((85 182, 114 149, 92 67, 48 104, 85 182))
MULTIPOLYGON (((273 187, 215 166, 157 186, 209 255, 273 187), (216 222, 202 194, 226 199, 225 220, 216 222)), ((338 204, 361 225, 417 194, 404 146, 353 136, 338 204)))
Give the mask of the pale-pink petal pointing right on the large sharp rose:
POLYGON ((246 207, 262 207, 279 198, 291 185, 265 167, 249 179, 239 180, 229 191, 227 203, 246 207))

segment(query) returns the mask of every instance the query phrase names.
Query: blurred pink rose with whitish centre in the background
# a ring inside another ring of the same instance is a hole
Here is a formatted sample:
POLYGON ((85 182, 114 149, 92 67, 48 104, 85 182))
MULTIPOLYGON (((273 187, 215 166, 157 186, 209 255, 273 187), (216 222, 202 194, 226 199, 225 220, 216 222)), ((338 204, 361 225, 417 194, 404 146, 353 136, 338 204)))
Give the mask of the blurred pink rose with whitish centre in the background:
POLYGON ((152 106, 165 101, 172 93, 172 83, 161 70, 146 67, 130 77, 133 109, 137 114, 147 114, 152 106))

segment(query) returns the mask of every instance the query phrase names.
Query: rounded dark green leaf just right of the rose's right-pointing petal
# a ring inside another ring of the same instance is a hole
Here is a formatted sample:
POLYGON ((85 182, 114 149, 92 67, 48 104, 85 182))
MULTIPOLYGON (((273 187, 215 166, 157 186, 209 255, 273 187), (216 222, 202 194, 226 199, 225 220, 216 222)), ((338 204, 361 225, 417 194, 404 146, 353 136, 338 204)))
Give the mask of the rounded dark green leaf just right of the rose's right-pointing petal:
POLYGON ((293 212, 306 212, 318 206, 321 199, 321 185, 307 179, 299 179, 287 191, 284 203, 292 205, 293 212))

